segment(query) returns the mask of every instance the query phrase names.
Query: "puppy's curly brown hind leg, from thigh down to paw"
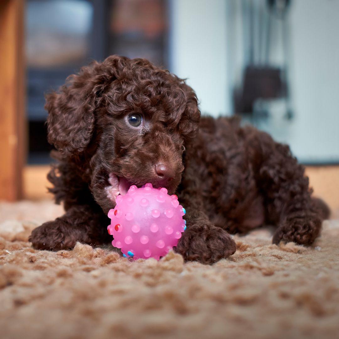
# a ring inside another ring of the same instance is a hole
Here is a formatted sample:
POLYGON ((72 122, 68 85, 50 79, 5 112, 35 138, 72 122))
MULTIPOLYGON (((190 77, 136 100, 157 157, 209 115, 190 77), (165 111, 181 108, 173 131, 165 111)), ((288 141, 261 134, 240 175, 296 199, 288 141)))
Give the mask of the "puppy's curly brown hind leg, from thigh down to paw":
POLYGON ((263 161, 257 169, 259 189, 265 197, 267 221, 278 223, 273 243, 293 241, 310 245, 318 236, 323 214, 311 198, 304 167, 286 145, 263 134, 263 161))

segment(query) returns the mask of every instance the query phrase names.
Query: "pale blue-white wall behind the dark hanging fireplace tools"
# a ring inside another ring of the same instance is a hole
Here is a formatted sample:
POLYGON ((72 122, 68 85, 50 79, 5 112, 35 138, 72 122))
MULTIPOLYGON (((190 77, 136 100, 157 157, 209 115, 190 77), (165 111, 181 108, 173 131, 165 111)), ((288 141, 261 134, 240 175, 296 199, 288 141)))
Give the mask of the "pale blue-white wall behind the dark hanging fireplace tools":
MULTIPOLYGON (((290 144, 303 162, 339 161, 339 0, 291 3, 289 74, 295 118, 283 119, 285 106, 276 102, 273 118, 260 128, 290 144)), ((240 0, 171 1, 170 69, 188 78, 202 111, 214 116, 232 112, 232 91, 241 79, 248 45, 241 11, 240 0)), ((275 26, 271 34, 270 62, 276 66, 284 60, 281 28, 275 26)))

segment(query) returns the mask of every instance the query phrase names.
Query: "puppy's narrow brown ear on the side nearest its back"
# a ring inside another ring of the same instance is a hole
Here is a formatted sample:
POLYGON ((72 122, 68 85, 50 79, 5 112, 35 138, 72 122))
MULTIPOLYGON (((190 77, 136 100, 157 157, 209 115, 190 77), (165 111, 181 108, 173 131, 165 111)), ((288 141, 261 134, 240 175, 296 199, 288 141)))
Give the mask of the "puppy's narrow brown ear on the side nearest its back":
POLYGON ((198 99, 193 89, 183 83, 182 89, 186 94, 186 105, 180 120, 180 133, 189 141, 194 138, 199 127, 200 110, 198 107, 198 99))

